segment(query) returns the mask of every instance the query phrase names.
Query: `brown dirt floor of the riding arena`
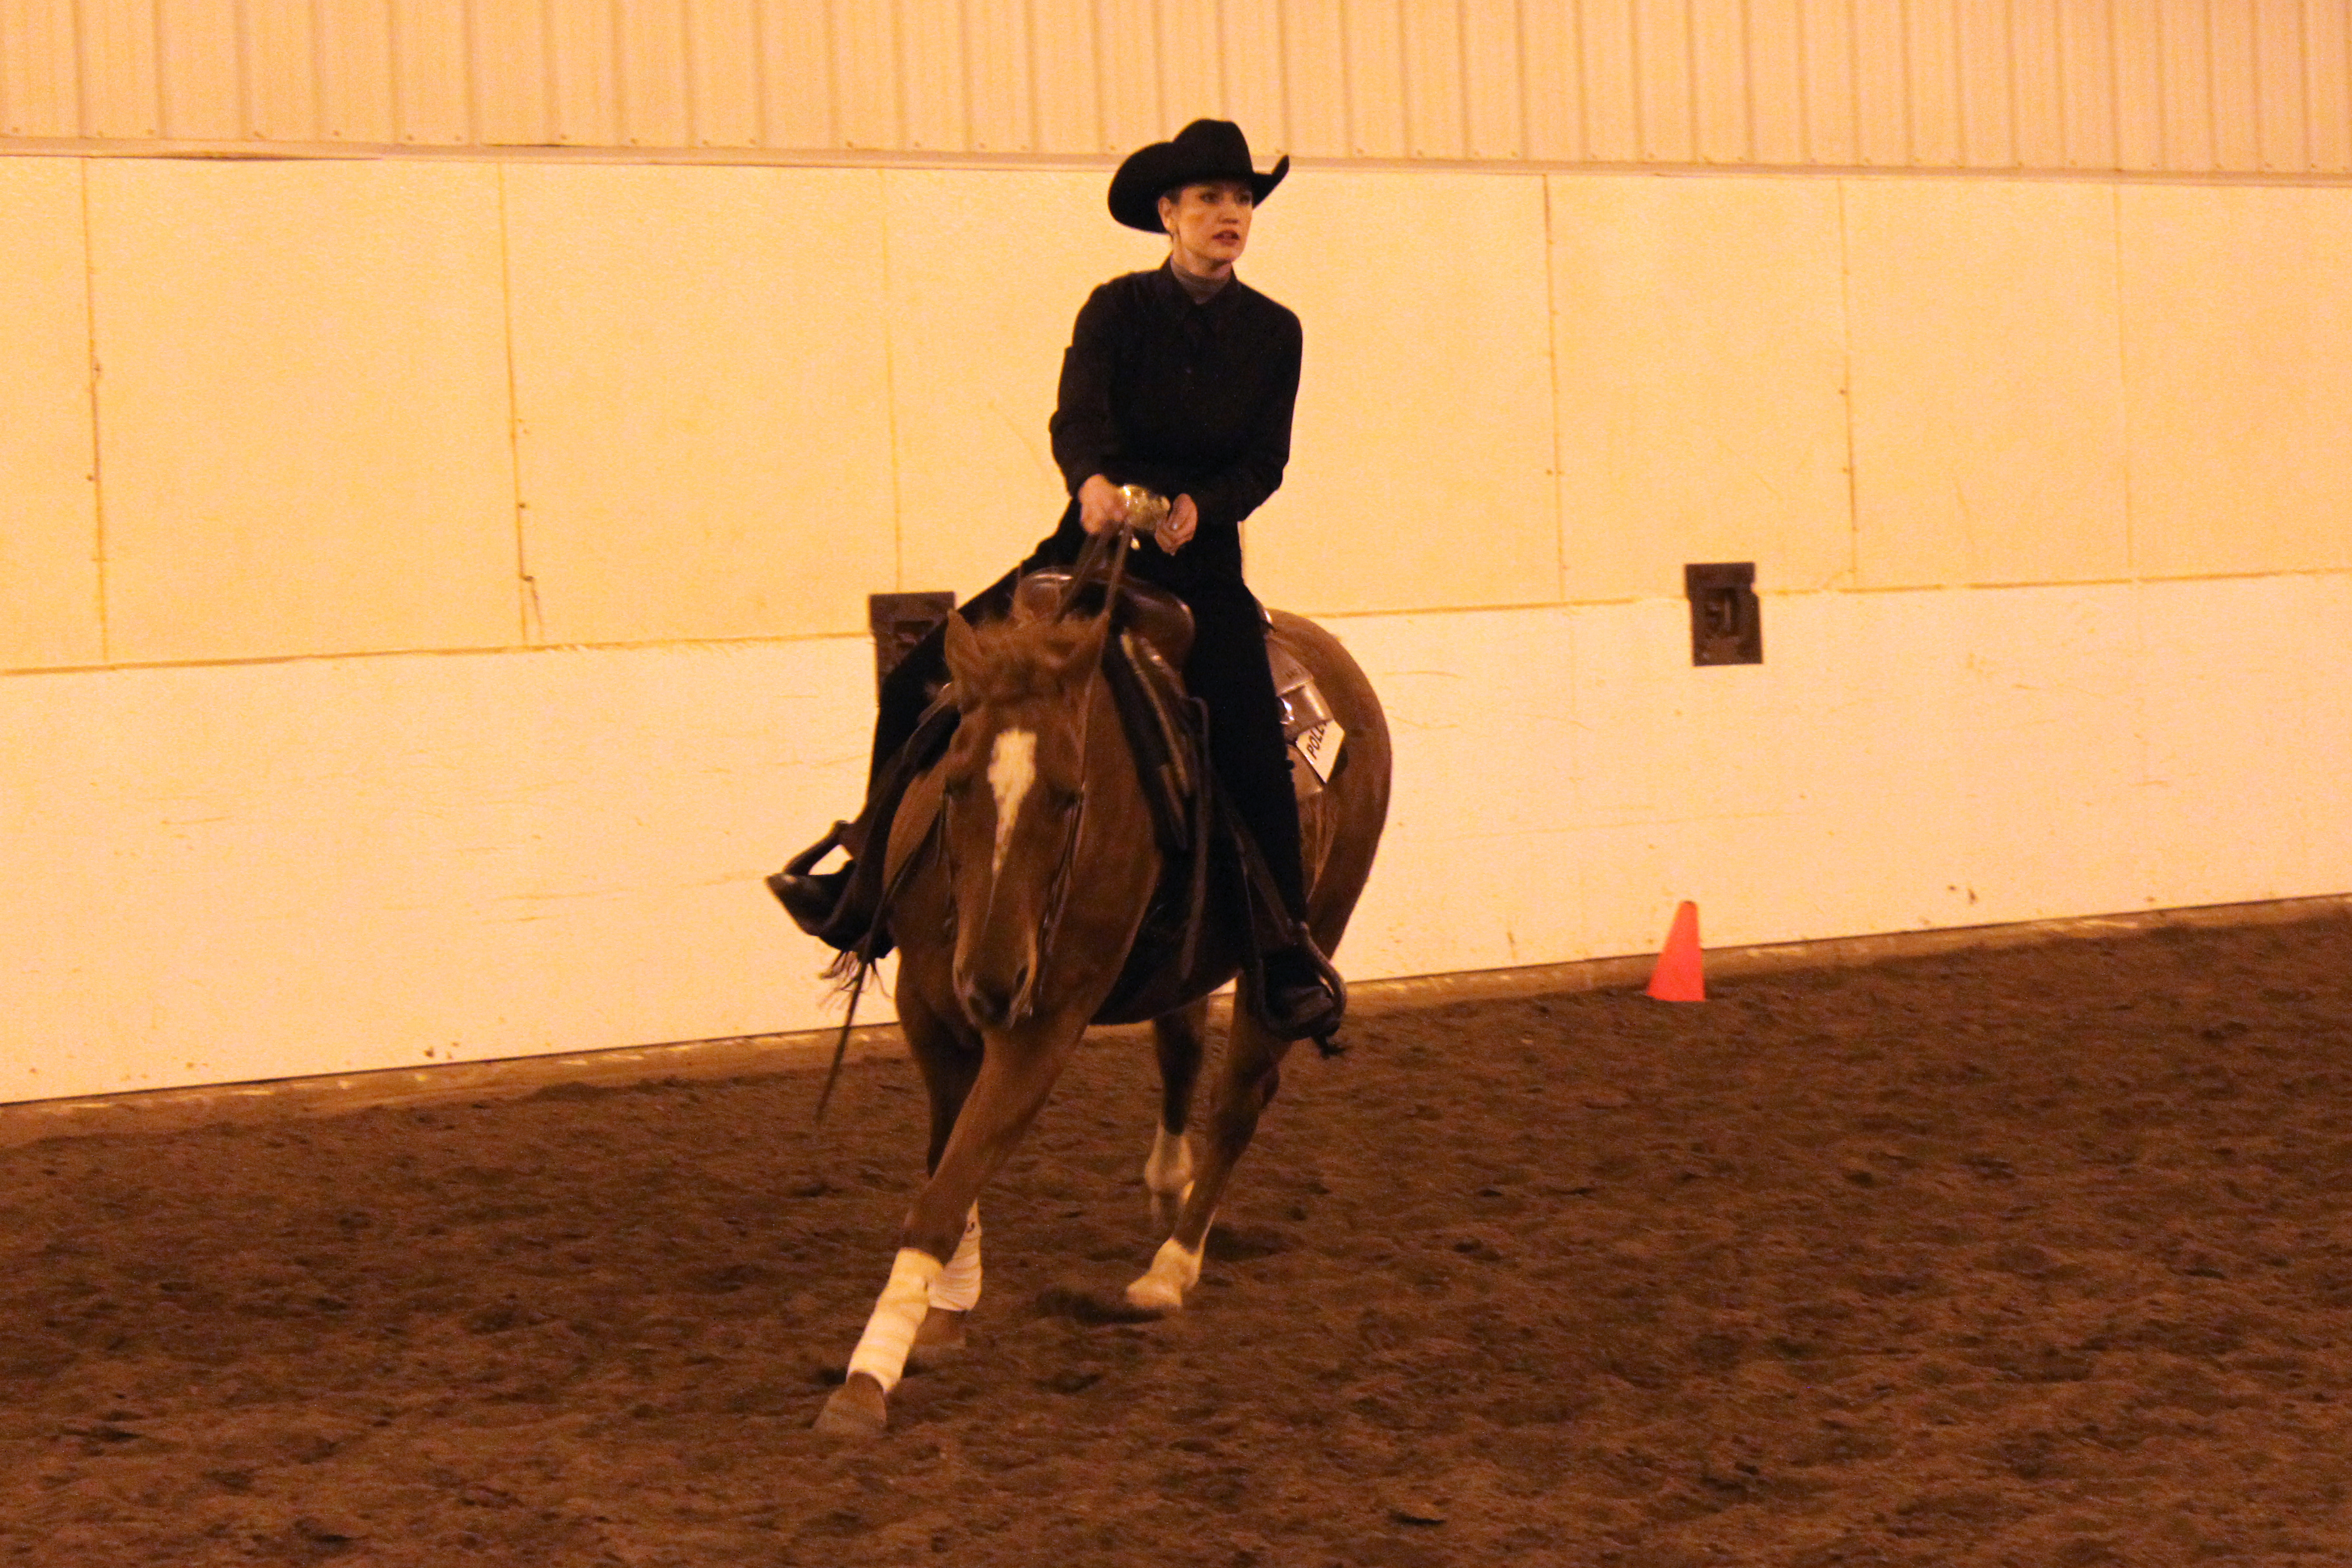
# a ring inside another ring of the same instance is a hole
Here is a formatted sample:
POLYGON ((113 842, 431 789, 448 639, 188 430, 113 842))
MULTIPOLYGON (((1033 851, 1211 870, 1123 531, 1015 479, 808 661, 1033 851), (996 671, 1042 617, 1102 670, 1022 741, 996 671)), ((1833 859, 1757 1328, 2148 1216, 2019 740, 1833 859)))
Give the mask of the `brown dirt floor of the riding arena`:
POLYGON ((0 1563, 2352 1563, 2352 921, 1350 1036, 1164 1323, 1091 1045, 873 1446, 898 1059, 0 1151, 0 1563))

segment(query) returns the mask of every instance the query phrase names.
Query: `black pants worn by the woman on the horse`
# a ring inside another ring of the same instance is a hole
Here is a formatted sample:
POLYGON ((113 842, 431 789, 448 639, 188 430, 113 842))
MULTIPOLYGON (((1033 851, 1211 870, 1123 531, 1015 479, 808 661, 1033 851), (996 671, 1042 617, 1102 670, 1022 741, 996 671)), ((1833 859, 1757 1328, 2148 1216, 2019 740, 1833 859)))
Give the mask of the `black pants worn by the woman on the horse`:
MULTIPOLYGON (((995 622, 1011 612, 1014 584, 1023 574, 1070 563, 1070 527, 1063 527, 993 586, 957 610, 967 622, 995 622)), ((1265 662, 1265 612, 1240 572, 1162 572, 1160 546, 1143 544, 1129 556, 1138 577, 1157 577, 1192 607, 1192 655, 1183 664, 1185 687, 1209 706, 1209 756, 1235 812, 1258 841, 1291 918, 1305 921, 1305 876, 1298 866, 1298 796, 1291 793, 1289 742, 1282 739, 1282 699, 1265 662)), ((948 629, 934 626, 882 680, 882 713, 875 720, 873 770, 898 756, 931 692, 948 678, 948 629)))

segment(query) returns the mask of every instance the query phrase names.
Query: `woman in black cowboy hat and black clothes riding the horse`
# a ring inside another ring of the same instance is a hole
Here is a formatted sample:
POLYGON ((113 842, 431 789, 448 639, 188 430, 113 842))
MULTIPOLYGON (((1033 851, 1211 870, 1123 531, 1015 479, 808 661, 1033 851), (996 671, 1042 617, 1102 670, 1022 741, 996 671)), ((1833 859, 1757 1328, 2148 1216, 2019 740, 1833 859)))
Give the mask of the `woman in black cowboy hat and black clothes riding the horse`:
MULTIPOLYGON (((1171 497, 1160 549, 1131 551, 1127 570, 1192 607, 1185 685, 1209 709, 1218 782, 1258 841, 1296 928, 1296 942, 1265 954, 1263 1022, 1282 1038, 1305 1038, 1338 1026, 1343 996, 1305 935, 1282 702, 1265 662, 1265 614, 1242 582, 1242 518, 1282 485, 1291 454, 1301 334, 1291 311, 1232 275, 1251 214, 1287 172, 1289 158, 1270 174, 1254 172, 1249 141, 1230 120, 1195 120, 1112 174, 1110 217, 1167 233, 1169 259, 1112 278, 1077 313, 1051 421, 1070 506, 1016 572, 960 614, 967 622, 1007 614, 1023 572, 1065 567, 1089 534, 1124 523, 1122 485, 1171 497)), ((943 678, 943 645, 946 629, 936 629, 884 680, 875 777, 915 732, 929 690, 943 678)), ((868 810, 880 817, 889 805, 868 810)), ((873 826, 887 836, 887 817, 873 826)), ((880 843, 875 836, 873 845, 880 843)), ((804 930, 837 935, 844 928, 837 906, 851 881, 847 871, 786 871, 769 885, 804 930)))

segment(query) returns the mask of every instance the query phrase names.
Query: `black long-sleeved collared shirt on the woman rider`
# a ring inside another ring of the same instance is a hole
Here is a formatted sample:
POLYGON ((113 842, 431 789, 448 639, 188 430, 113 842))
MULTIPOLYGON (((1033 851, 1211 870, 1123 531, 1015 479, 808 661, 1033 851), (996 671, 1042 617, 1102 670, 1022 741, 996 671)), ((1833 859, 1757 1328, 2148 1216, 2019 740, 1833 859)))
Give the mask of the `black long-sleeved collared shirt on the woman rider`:
POLYGON ((1190 494, 1200 532, 1183 556, 1240 574, 1242 518, 1291 459, 1298 351, 1298 318, 1240 278, 1204 304, 1167 264, 1112 278, 1061 360, 1054 461, 1073 494, 1094 473, 1190 494))

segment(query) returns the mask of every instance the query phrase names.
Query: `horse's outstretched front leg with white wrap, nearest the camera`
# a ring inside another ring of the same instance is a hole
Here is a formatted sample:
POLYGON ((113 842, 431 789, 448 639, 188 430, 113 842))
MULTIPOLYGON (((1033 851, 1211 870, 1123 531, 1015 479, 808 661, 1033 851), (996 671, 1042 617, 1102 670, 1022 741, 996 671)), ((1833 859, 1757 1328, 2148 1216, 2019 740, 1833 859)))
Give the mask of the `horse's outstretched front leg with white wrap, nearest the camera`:
MULTIPOLYGON (((915 1205, 898 1227, 898 1257, 891 1260, 889 1283, 882 1285, 866 1333, 849 1354, 847 1380, 816 1417, 818 1431, 873 1436, 889 1424, 889 1391, 906 1373, 931 1304, 950 1288, 946 1276, 964 1241, 967 1217, 981 1189, 1037 1121, 1082 1029, 1084 1019, 1077 1019, 985 1038, 981 1071, 971 1081, 931 1180, 915 1194, 915 1205)), ((976 1243, 974 1236, 974 1253, 976 1243)))

